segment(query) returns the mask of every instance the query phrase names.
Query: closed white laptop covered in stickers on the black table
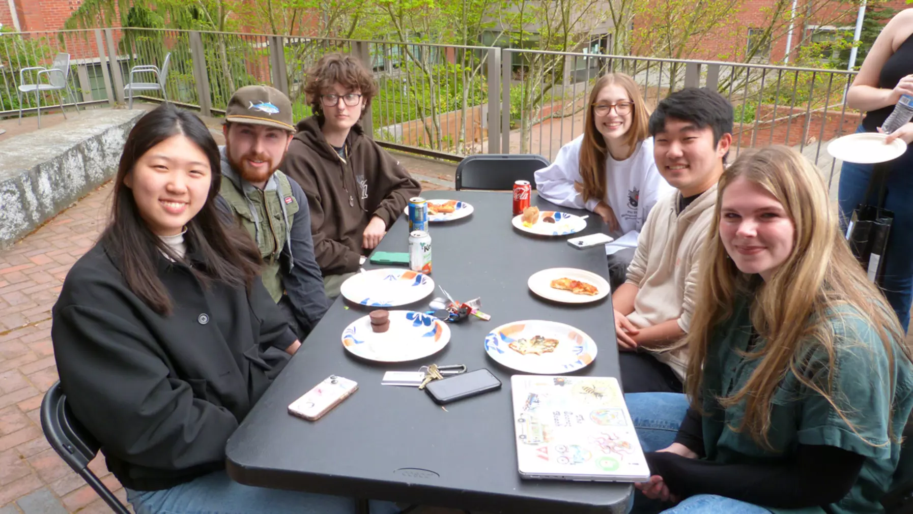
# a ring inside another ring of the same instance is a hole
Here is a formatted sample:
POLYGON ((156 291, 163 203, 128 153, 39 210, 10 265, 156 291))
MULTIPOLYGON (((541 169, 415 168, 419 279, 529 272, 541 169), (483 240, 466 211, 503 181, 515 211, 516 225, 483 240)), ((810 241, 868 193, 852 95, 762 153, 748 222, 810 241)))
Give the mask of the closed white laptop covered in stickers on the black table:
POLYGON ((618 381, 513 375, 521 478, 641 482, 650 478, 618 381))

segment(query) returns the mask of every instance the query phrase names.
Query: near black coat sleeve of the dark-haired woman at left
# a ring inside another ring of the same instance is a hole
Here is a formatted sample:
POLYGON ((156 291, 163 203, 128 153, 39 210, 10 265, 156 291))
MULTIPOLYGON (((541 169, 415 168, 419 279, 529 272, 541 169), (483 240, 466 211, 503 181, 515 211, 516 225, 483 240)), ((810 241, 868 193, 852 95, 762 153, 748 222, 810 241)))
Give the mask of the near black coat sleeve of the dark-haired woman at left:
POLYGON ((112 308, 55 308, 51 326, 73 414, 121 460, 157 469, 224 461, 235 416, 194 397, 188 382, 170 375, 152 334, 131 318, 121 298, 92 293, 99 305, 111 302, 112 308))

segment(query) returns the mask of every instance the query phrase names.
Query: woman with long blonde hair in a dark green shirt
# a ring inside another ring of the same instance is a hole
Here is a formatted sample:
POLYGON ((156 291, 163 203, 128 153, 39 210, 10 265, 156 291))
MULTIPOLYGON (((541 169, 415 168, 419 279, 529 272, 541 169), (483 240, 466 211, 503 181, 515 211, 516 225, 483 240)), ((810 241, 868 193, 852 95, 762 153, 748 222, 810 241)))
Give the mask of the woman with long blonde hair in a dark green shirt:
POLYGON ((663 448, 635 511, 881 511, 913 408, 897 317, 800 153, 743 154, 718 190, 685 340, 690 401, 626 396, 645 450, 663 448))

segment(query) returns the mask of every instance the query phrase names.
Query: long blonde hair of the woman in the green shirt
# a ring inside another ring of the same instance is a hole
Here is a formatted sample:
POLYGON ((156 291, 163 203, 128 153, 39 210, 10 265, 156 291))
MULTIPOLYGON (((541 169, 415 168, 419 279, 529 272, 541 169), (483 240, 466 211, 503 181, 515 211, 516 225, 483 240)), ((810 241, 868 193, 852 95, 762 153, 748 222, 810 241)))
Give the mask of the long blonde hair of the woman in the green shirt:
MULTIPOLYGON (((773 146, 742 152, 719 179, 717 206, 708 241, 701 257, 701 281, 695 313, 685 339, 688 348, 686 391, 692 406, 701 409, 704 364, 716 324, 732 315, 737 295, 752 294, 751 324, 765 341, 760 349, 746 355, 760 359, 748 381, 731 396, 719 397, 724 408, 745 402, 745 415, 737 431, 748 431, 755 442, 770 448, 771 399, 777 386, 789 373, 834 407, 854 431, 844 411, 834 401, 831 374, 826 384, 814 381, 803 368, 800 348, 824 349, 827 370, 833 370, 834 326, 829 319, 834 307, 849 305, 878 334, 894 369, 897 342, 901 355, 910 359, 897 316, 876 286, 868 282, 843 234, 838 230, 837 214, 827 195, 818 170, 794 149, 773 146), (739 271, 728 259, 719 240, 719 216, 723 193, 737 178, 749 180, 770 192, 782 203, 795 226, 792 254, 771 276, 771 280, 750 291, 752 276, 739 271)), ((893 374, 893 371, 892 371, 893 374)), ((891 390, 896 376, 891 375, 891 390)), ((893 398, 892 398, 893 408, 893 398)))

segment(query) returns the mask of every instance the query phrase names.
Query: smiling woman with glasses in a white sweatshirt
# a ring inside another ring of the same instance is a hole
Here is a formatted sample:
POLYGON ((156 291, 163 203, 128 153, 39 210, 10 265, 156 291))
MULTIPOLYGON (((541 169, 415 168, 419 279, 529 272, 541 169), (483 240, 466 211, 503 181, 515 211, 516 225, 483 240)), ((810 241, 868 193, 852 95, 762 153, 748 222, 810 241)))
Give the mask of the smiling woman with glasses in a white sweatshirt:
MULTIPOLYGON (((656 200, 673 191, 656 170, 648 121, 644 98, 631 77, 600 77, 590 93, 583 134, 561 147, 548 168, 536 172, 539 196, 593 211, 612 235, 634 232, 636 242, 656 200)), ((613 266, 613 289, 624 283, 624 268, 634 250, 625 248, 614 256, 620 267, 613 266)))

